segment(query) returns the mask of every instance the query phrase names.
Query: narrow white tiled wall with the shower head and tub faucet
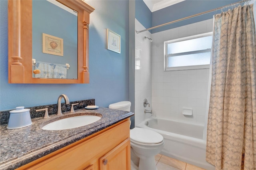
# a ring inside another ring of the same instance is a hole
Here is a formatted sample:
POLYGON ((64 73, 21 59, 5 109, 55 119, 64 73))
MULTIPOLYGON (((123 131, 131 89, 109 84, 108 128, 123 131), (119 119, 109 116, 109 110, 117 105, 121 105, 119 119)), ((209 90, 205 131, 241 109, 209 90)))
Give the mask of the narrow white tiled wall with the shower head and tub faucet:
MULTIPOLYGON (((135 20, 135 29, 144 30, 146 28, 138 20, 135 20)), ((144 36, 152 37, 150 32, 135 34, 135 126, 151 116, 149 113, 145 114, 144 109, 151 110, 152 108, 152 43, 149 40, 144 40, 144 36), (143 107, 145 98, 150 103, 150 107, 143 107)))

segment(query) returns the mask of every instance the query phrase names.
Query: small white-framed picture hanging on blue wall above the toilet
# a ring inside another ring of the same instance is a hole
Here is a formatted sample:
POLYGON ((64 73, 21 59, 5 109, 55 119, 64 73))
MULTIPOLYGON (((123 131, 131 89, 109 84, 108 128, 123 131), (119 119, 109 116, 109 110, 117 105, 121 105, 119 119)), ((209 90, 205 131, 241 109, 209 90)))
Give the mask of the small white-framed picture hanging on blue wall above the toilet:
POLYGON ((110 29, 107 29, 108 50, 121 53, 121 36, 110 29))

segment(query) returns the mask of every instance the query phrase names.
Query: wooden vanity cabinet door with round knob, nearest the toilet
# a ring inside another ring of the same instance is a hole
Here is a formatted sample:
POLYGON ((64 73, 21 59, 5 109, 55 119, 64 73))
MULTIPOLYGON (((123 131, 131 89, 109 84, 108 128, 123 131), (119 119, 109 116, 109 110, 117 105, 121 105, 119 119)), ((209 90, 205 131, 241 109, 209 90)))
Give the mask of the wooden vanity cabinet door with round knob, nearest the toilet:
POLYGON ((130 157, 130 139, 128 138, 100 158, 100 170, 130 170, 130 157))

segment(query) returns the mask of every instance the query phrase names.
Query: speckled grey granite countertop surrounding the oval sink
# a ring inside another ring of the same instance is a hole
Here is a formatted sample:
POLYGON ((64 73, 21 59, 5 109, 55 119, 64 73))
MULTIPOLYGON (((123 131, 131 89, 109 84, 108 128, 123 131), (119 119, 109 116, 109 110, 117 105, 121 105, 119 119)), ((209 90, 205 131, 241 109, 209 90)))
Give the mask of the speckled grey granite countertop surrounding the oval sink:
POLYGON ((74 113, 64 112, 63 115, 50 115, 49 118, 32 119, 32 125, 24 128, 7 129, 0 126, 0 170, 15 169, 64 146, 68 146, 86 136, 110 127, 134 115, 132 112, 100 107, 96 110, 78 109, 74 113), (51 121, 83 115, 84 113, 102 115, 99 121, 78 128, 66 130, 43 130, 42 127, 51 121))

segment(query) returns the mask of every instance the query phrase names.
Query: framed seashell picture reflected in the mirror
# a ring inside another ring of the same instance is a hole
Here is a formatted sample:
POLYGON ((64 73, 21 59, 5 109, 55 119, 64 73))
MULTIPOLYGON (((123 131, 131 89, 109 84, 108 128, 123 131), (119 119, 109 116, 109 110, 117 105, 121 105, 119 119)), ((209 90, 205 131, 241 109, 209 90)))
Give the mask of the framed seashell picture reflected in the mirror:
POLYGON ((43 53, 63 56, 63 39, 43 33, 43 53))

